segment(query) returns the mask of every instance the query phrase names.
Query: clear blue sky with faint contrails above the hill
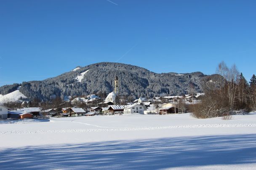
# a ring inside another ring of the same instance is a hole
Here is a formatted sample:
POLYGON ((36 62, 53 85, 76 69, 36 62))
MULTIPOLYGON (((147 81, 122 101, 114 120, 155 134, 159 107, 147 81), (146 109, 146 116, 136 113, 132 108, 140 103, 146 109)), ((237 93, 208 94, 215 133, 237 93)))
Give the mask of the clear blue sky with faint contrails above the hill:
POLYGON ((256 74, 256 0, 0 0, 0 86, 98 62, 256 74))

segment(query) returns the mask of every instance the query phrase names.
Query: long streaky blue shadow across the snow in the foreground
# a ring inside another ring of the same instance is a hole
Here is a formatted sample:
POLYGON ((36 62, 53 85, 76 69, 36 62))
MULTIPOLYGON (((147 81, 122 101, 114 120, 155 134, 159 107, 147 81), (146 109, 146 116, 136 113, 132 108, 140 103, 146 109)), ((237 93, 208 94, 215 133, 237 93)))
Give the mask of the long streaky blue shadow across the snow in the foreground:
POLYGON ((0 169, 160 169, 256 163, 256 134, 29 146, 0 150, 0 169))

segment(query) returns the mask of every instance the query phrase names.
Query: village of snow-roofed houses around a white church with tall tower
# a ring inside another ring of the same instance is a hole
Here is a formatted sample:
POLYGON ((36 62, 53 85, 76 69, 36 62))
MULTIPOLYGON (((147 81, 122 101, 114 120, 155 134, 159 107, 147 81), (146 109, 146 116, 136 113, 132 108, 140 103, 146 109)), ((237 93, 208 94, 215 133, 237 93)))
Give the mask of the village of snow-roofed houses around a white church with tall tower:
POLYGON ((191 104, 200 103, 204 93, 185 94, 183 96, 163 96, 146 99, 139 99, 129 102, 127 105, 117 104, 118 77, 115 77, 115 92, 111 92, 105 99, 91 94, 86 97, 76 97, 70 101, 73 105, 84 103, 86 107, 58 107, 43 110, 41 107, 23 107, 11 110, 0 105, 0 120, 25 119, 25 118, 50 118, 50 117, 77 117, 94 115, 123 115, 123 114, 144 114, 144 115, 166 115, 185 113, 191 104), (87 108, 88 106, 91 106, 87 108))

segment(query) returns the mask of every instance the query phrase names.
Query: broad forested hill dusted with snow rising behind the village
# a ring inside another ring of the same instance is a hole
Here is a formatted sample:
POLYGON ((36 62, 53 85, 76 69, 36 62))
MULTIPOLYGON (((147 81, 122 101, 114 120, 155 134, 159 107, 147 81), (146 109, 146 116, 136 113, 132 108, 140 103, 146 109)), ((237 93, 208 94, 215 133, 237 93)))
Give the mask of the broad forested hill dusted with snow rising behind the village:
POLYGON ((115 76, 119 78, 121 95, 154 97, 188 94, 190 84, 195 92, 202 92, 203 79, 210 79, 201 72, 153 73, 145 68, 121 63, 96 63, 78 67, 73 71, 43 81, 29 81, 0 87, 0 94, 8 94, 20 87, 20 92, 30 99, 49 100, 52 96, 81 96, 109 93, 114 89, 115 76))

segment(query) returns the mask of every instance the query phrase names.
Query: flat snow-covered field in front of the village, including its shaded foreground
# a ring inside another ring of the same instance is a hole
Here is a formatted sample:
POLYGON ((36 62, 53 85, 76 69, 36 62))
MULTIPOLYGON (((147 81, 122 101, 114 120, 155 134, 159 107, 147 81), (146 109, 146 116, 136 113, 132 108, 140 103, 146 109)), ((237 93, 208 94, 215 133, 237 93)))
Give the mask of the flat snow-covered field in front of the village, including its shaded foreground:
POLYGON ((256 114, 115 115, 0 123, 0 169, 256 169, 256 114))

